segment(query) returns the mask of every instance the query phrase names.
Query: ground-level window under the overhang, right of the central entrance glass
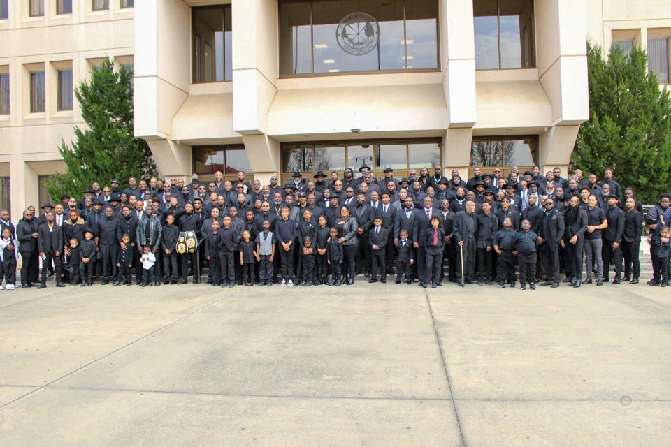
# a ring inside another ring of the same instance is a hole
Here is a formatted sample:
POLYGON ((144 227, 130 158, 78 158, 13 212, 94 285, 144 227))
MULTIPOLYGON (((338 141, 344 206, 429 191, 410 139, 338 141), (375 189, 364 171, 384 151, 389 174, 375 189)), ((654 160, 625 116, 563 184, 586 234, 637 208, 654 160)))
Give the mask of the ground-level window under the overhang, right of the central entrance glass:
POLYGON ((510 138, 476 138, 471 145, 471 166, 534 166, 538 140, 535 135, 510 138))

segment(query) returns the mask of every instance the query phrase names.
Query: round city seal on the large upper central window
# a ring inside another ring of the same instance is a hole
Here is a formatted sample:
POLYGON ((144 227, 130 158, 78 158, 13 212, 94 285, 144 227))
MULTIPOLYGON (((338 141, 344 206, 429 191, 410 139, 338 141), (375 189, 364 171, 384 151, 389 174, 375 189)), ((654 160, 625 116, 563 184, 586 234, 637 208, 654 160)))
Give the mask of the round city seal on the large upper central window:
POLYGON ((352 13, 340 20, 335 38, 343 51, 362 56, 380 43, 380 24, 368 13, 352 13))

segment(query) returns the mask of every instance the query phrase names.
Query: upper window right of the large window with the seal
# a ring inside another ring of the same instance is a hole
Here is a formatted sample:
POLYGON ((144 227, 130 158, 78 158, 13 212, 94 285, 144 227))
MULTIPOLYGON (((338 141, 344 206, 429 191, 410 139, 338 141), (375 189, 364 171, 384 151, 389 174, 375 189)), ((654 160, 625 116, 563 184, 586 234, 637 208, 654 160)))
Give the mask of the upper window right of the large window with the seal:
POLYGON ((475 0, 475 69, 535 66, 532 0, 475 0))

